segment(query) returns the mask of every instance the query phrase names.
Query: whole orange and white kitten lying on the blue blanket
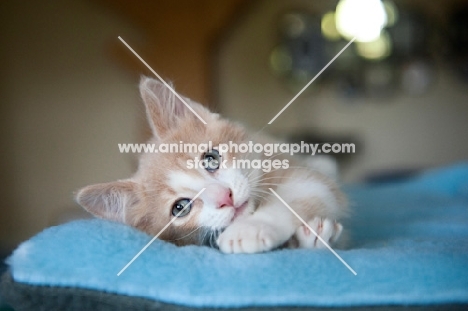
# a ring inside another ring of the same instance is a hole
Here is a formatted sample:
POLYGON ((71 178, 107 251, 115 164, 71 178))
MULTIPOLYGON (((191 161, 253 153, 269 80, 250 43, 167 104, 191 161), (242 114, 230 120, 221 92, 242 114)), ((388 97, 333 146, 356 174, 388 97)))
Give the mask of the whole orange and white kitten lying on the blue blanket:
POLYGON ((167 87, 154 79, 142 78, 140 93, 153 133, 148 143, 207 144, 211 141, 213 149, 203 154, 144 153, 131 178, 91 185, 79 191, 77 202, 87 211, 154 236, 185 207, 160 238, 177 245, 201 245, 208 241, 225 253, 264 252, 285 244, 324 247, 268 189, 272 188, 323 240, 327 243, 338 240, 342 226, 337 221, 345 214, 346 202, 331 178, 281 153, 271 157, 236 150, 219 154, 216 146, 223 143, 267 140, 185 98, 206 121, 203 124, 167 87), (188 163, 195 158, 204 159, 210 165, 188 168, 188 163), (233 168, 238 159, 287 160, 289 168, 269 172, 233 168), (186 206, 203 188, 199 197, 186 206))

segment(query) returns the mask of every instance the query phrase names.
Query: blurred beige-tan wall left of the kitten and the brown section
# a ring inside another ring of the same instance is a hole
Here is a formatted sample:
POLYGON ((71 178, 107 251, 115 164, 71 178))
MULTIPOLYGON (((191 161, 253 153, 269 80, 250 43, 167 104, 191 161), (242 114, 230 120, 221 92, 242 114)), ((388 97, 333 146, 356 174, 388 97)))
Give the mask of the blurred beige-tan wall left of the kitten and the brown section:
POLYGON ((0 250, 80 213, 73 192, 128 177, 145 124, 138 76, 106 46, 138 32, 90 1, 1 1, 0 250))

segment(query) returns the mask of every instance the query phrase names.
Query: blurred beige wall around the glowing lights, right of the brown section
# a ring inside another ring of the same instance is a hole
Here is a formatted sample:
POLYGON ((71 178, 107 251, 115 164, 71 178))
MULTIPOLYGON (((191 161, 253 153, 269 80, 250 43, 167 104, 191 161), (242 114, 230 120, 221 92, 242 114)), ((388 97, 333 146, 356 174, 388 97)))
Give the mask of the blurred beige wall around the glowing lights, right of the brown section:
MULTIPOLYGON (((443 22, 455 2, 463 1, 396 1, 428 11, 435 17, 431 23, 443 22)), ((265 126, 296 94, 269 68, 270 53, 278 44, 279 17, 291 9, 323 14, 335 6, 336 1, 257 1, 219 48, 221 112, 257 130, 265 126)), ((342 47, 345 44, 343 41, 342 47)), ((347 100, 332 88, 318 87, 302 94, 265 131, 283 137, 300 130, 354 135, 363 148, 357 147, 343 172, 346 181, 386 169, 427 168, 466 160, 468 84, 457 79, 446 63, 435 63, 435 67, 434 84, 419 96, 400 91, 392 98, 347 100)))

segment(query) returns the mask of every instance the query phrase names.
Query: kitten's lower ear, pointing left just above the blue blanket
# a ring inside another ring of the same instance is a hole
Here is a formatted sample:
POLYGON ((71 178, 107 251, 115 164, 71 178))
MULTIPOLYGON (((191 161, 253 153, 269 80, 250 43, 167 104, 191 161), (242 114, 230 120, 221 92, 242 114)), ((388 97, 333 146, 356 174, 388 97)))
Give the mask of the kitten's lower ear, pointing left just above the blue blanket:
POLYGON ((138 184, 115 181, 81 189, 76 201, 96 217, 125 223, 125 210, 140 203, 138 184))

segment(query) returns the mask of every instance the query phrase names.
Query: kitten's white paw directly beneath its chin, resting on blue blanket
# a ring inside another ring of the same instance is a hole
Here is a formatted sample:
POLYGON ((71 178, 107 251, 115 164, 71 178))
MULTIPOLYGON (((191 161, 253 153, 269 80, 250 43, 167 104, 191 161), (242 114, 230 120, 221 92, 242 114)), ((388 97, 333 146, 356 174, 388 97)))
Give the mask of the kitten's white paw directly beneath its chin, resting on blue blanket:
POLYGON ((258 222, 238 222, 230 225, 218 238, 223 253, 259 253, 281 244, 277 230, 258 222))

